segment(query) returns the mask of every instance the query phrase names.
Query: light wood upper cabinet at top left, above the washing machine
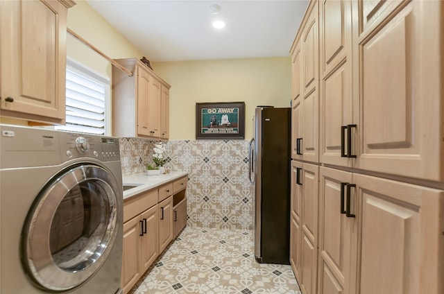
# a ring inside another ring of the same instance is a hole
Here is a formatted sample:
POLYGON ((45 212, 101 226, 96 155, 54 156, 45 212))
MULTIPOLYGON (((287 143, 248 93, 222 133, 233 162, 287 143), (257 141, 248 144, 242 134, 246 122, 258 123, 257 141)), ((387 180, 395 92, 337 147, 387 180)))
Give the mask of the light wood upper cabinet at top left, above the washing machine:
POLYGON ((0 115, 65 123, 67 10, 74 1, 0 1, 0 115))

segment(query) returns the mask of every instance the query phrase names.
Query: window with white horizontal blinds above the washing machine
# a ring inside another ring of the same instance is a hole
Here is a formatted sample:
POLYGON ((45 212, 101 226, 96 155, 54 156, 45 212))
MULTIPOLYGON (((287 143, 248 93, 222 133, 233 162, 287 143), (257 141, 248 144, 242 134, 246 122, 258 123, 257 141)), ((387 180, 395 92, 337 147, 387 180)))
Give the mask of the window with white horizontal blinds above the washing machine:
POLYGON ((68 59, 66 126, 56 126, 56 130, 108 135, 109 92, 109 80, 68 59))

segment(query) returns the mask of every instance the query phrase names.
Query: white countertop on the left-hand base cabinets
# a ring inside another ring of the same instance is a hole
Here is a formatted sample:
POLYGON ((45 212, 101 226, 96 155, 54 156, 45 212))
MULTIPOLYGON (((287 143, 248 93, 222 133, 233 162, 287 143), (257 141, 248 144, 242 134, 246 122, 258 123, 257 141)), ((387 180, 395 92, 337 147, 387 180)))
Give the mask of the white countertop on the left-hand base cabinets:
POLYGON ((123 176, 123 186, 137 186, 123 191, 123 199, 130 198, 144 191, 157 188, 162 184, 171 182, 188 175, 185 171, 171 171, 163 175, 146 175, 146 173, 136 173, 135 175, 123 176))

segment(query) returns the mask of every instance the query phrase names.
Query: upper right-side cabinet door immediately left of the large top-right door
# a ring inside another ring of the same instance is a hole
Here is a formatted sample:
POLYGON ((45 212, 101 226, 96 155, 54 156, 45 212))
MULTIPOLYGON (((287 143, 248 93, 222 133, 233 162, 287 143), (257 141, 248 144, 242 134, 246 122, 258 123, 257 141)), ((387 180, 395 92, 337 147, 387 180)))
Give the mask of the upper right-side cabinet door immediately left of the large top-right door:
MULTIPOLYGON (((351 157, 341 157, 341 148, 345 153, 349 140, 341 127, 356 123, 354 107, 359 117, 359 107, 352 99, 351 4, 327 0, 320 3, 320 9, 321 162, 352 166, 351 157)), ((355 150, 351 151, 350 155, 356 155, 355 150)))

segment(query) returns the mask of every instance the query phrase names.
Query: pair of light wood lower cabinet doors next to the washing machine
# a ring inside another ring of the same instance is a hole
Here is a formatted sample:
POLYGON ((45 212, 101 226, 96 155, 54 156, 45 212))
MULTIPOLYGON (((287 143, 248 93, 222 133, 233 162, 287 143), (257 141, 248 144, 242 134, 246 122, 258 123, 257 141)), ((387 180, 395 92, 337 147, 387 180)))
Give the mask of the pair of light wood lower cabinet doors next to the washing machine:
POLYGON ((128 293, 159 255, 157 205, 123 224, 122 288, 128 293))

